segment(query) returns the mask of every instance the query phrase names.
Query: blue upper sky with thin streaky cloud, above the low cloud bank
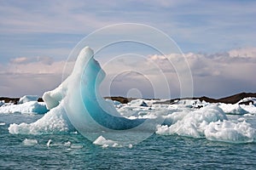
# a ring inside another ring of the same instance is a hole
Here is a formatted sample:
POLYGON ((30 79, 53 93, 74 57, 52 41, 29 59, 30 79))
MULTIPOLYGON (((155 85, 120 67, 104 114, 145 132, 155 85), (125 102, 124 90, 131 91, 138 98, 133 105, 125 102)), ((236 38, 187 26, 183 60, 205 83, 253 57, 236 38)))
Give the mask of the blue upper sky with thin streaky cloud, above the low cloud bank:
MULTIPOLYGON (((256 43, 254 6, 253 1, 1 1, 1 61, 35 55, 63 59, 90 32, 123 22, 155 26, 186 53, 248 47, 256 43)), ((114 33, 119 32, 104 39, 114 33)))

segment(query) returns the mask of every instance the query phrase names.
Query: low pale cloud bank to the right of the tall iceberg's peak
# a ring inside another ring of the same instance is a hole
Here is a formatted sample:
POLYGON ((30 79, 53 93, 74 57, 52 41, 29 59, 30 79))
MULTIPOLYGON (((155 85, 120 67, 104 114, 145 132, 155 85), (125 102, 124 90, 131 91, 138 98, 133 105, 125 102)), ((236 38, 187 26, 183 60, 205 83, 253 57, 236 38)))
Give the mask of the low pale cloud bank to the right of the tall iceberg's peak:
MULTIPOLYGON (((256 72, 256 58, 254 51, 255 48, 239 48, 216 54, 184 54, 193 77, 194 95, 222 97, 243 91, 255 92, 256 81, 253 77, 255 77, 256 72)), ((132 62, 129 65, 129 62, 125 59, 117 59, 117 62, 105 66, 107 71, 106 81, 113 81, 113 86, 118 90, 119 95, 125 96, 125 92, 128 91, 126 88, 131 88, 132 83, 140 83, 139 80, 143 82, 143 78, 134 73, 134 71, 138 71, 143 77, 148 78, 148 83, 154 90, 160 90, 157 93, 160 96, 151 97, 168 98, 170 95, 166 86, 171 89, 172 96, 178 97, 182 90, 180 78, 184 74, 177 72, 177 68, 184 65, 182 57, 182 54, 168 54, 166 56, 153 54, 149 55, 146 60, 138 59, 136 65, 132 62), (172 65, 173 63, 175 65, 172 65), (123 74, 123 72, 126 74, 123 74), (133 74, 131 74, 132 72, 133 74), (108 75, 108 73, 111 74, 108 75), (113 75, 118 78, 114 80, 113 75), (166 80, 160 76, 166 77, 166 80), (125 89, 121 91, 122 88, 125 89)), ((143 83, 140 85, 141 88, 146 87, 143 83)), ((192 87, 193 84, 187 84, 187 88, 189 86, 192 87)), ((148 94, 152 95, 152 92, 148 92, 148 94)))

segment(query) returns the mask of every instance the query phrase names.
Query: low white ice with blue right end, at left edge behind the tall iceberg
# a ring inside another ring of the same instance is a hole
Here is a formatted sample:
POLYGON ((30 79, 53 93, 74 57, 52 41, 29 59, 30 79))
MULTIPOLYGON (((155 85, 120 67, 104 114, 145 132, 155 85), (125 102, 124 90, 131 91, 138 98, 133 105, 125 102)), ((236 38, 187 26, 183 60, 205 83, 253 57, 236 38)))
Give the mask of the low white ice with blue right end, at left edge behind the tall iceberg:
POLYGON ((48 110, 44 102, 29 101, 20 105, 3 105, 0 113, 36 113, 44 114, 48 110))

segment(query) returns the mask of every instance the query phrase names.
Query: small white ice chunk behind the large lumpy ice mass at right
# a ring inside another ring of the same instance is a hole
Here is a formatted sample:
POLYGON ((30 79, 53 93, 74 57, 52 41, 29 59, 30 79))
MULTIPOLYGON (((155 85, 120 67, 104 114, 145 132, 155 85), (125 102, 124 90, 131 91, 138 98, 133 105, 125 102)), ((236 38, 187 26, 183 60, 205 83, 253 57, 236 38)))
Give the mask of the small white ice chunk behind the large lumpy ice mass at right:
POLYGON ((248 111, 245 111, 241 108, 238 104, 220 104, 219 107, 226 113, 226 114, 234 114, 234 115, 244 115, 247 114, 248 111))

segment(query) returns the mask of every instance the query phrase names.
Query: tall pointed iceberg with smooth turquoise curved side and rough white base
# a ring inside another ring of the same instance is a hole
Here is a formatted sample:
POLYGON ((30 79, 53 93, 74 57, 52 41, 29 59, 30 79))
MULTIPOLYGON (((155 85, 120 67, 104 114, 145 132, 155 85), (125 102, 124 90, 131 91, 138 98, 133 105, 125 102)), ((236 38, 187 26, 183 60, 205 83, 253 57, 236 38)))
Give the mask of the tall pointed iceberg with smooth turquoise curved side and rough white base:
POLYGON ((11 124, 9 133, 44 133, 44 130, 45 133, 63 132, 75 127, 84 134, 140 127, 146 119, 121 116, 99 94, 98 88, 105 72, 93 56, 92 49, 83 48, 72 74, 59 87, 44 93, 43 99, 50 111, 37 122, 11 124))

